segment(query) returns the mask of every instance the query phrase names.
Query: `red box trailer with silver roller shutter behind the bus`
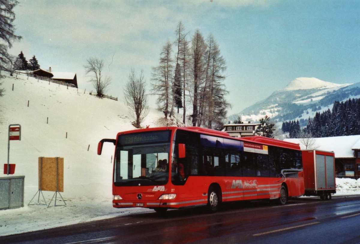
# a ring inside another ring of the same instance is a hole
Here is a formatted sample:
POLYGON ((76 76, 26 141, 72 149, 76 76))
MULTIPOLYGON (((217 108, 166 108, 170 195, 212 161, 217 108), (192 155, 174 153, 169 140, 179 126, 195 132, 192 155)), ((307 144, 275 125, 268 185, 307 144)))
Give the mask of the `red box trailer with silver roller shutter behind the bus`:
POLYGON ((305 195, 331 199, 331 194, 336 193, 334 152, 302 150, 302 167, 305 195))

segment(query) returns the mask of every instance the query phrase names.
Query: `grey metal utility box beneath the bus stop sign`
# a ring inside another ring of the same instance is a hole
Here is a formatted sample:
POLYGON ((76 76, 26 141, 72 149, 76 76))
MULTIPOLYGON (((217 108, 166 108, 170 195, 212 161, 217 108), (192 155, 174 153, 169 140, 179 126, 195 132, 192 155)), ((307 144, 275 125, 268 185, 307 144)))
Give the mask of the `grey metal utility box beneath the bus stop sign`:
POLYGON ((25 176, 0 176, 0 210, 24 207, 25 176))

